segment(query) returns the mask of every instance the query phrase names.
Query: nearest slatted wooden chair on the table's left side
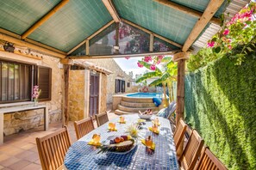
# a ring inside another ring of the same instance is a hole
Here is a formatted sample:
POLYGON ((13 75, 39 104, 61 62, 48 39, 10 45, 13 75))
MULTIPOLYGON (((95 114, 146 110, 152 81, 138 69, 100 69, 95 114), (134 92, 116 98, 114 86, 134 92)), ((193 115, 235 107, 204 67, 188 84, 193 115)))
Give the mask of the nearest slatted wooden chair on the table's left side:
POLYGON ((66 126, 45 137, 36 137, 38 154, 43 170, 61 169, 67 149, 71 146, 66 126))

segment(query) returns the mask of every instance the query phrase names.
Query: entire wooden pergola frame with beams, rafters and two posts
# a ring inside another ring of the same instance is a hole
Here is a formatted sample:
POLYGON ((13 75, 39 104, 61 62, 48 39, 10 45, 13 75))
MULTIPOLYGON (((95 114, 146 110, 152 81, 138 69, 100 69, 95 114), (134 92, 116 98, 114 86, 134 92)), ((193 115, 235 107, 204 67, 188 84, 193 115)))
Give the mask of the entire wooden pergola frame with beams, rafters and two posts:
MULTIPOLYGON (((68 105, 66 105, 68 101, 68 81, 69 81, 69 70, 70 65, 72 64, 73 59, 93 59, 93 58, 123 58, 126 56, 129 57, 141 57, 141 56, 147 56, 147 55, 173 55, 173 61, 178 62, 178 92, 177 92, 177 121, 179 118, 184 118, 184 74, 185 74, 185 61, 189 58, 189 52, 190 47, 193 45, 193 43, 198 39, 201 33, 203 33, 205 27, 208 26, 208 24, 213 23, 215 25, 220 25, 221 20, 219 17, 215 16, 215 13, 220 7, 223 5, 225 1, 224 0, 209 0, 207 7, 203 11, 199 11, 194 8, 190 8, 184 4, 179 3, 178 1, 168 1, 168 0, 154 0, 150 3, 153 5, 158 5, 161 8, 167 8, 172 9, 172 11, 177 11, 178 14, 188 15, 191 17, 194 17, 197 19, 196 23, 191 26, 192 29, 190 30, 189 35, 185 39, 184 43, 180 43, 175 41, 175 39, 171 39, 169 37, 166 37, 164 35, 161 35, 161 33, 155 33, 151 27, 143 27, 140 25, 140 23, 136 21, 130 21, 126 19, 125 17, 122 17, 122 15, 119 15, 118 8, 116 8, 116 1, 112 0, 102 0, 98 1, 98 3, 103 3, 107 11, 109 12, 108 15, 112 17, 110 21, 107 21, 103 27, 100 27, 97 29, 96 32, 91 33, 89 36, 85 36, 82 41, 79 41, 79 39, 76 41, 77 45, 73 46, 68 51, 64 51, 59 49, 57 46, 53 46, 51 43, 45 43, 41 42, 40 39, 34 39, 32 36, 33 33, 35 33, 39 29, 43 29, 41 26, 46 24, 47 22, 51 22, 53 16, 58 13, 61 15, 61 9, 63 11, 69 3, 73 3, 69 0, 61 0, 58 4, 56 4, 53 9, 50 9, 47 14, 43 15, 39 20, 35 21, 30 27, 28 27, 27 30, 25 30, 23 33, 14 33, 14 31, 9 30, 8 27, 2 27, 0 28, 0 39, 6 42, 10 42, 15 44, 16 46, 26 46, 29 49, 33 49, 35 51, 43 52, 48 55, 52 55, 57 58, 62 58, 61 62, 62 64, 65 64, 64 71, 65 71, 65 102, 64 102, 64 124, 67 124, 68 122, 68 105), (140 30, 142 30, 145 33, 149 33, 150 35, 150 42, 149 42, 149 52, 147 53, 140 53, 140 54, 109 54, 109 55, 90 55, 90 39, 97 36, 99 33, 102 33, 103 30, 107 27, 109 27, 111 24, 116 23, 116 46, 119 45, 118 42, 118 30, 119 30, 119 22, 125 22, 133 27, 136 27, 140 30), (29 38, 30 36, 30 38, 29 38), (165 42, 171 44, 172 46, 178 47, 180 50, 175 50, 171 52, 153 52, 153 39, 158 38, 162 39, 165 42), (79 41, 79 42, 78 42, 79 41), (78 47, 85 46, 86 52, 83 56, 72 56, 72 52, 75 52, 78 47)), ((120 2, 118 2, 120 3, 120 2)), ((126 3, 123 2, 122 3, 126 3)), ((138 2, 139 3, 139 2, 138 2)), ((97 10, 97 9, 91 9, 91 10, 97 10)), ((121 10, 121 9, 119 9, 121 10)), ((17 16, 18 17, 18 16, 17 16)), ((145 16, 146 17, 146 16, 145 16)), ((159 16, 161 17, 161 16, 159 16)), ((184 23, 185 25, 186 23, 184 23)), ((160 27, 160 26, 159 26, 160 27)), ((170 25, 171 27, 171 25, 170 25)), ((64 27, 65 29, 65 27, 64 27)), ((166 30, 168 31, 168 30, 166 30)), ((171 31, 171 29, 169 30, 171 31)), ((80 36, 83 37, 83 34, 80 36)), ((210 37, 209 37, 210 38, 210 37)), ((54 39, 54 38, 53 38, 54 39)), ((59 42, 61 44, 61 42, 59 42)), ((59 45, 60 46, 60 45, 59 45)), ((32 57, 29 54, 23 54, 28 57, 32 57)))

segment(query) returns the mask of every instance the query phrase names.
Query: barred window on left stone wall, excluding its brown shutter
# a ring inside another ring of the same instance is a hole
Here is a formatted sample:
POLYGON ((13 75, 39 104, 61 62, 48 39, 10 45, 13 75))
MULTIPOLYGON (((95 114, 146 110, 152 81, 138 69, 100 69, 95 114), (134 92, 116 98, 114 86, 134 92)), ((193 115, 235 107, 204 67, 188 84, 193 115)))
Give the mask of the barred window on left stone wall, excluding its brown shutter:
POLYGON ((0 103, 31 100, 32 68, 0 60, 0 103))

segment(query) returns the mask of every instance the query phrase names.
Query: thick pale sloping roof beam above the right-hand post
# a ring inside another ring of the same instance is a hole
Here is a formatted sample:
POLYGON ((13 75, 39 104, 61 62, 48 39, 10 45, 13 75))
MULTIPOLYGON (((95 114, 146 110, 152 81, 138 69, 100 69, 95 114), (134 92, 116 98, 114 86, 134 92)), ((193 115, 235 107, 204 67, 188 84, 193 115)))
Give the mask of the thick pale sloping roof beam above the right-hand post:
POLYGON ((188 51, 190 46, 203 31, 203 28, 206 27, 212 16, 215 15, 215 12, 222 6, 223 2, 224 0, 210 0, 207 8, 203 12, 203 15, 201 18, 199 18, 192 31, 190 32, 189 37, 186 39, 184 46, 182 47, 183 52, 188 51))

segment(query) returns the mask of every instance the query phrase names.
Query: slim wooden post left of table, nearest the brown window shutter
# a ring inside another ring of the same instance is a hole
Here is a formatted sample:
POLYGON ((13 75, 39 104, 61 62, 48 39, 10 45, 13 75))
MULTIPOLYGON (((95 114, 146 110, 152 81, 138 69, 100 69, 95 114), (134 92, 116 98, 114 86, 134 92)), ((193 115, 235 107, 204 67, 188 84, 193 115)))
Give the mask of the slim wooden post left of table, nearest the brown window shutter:
POLYGON ((64 114, 62 116, 62 124, 68 125, 69 120, 69 106, 68 106, 68 88, 69 88, 69 71, 71 66, 64 64, 64 100, 63 100, 63 109, 64 114))

